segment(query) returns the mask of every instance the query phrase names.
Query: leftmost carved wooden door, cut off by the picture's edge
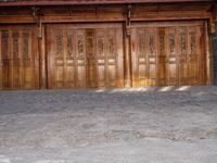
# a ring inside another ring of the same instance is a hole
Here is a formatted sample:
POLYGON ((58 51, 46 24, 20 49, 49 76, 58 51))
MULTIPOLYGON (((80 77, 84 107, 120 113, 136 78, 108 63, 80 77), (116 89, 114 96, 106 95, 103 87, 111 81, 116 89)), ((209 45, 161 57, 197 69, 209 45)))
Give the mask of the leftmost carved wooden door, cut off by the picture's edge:
POLYGON ((34 27, 1 27, 0 40, 1 89, 38 88, 38 46, 34 27))

